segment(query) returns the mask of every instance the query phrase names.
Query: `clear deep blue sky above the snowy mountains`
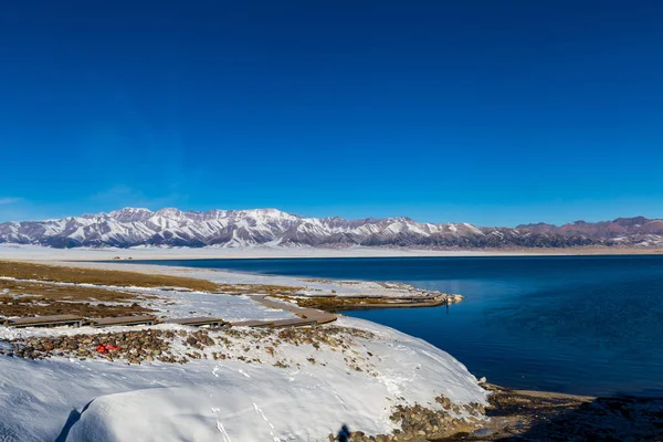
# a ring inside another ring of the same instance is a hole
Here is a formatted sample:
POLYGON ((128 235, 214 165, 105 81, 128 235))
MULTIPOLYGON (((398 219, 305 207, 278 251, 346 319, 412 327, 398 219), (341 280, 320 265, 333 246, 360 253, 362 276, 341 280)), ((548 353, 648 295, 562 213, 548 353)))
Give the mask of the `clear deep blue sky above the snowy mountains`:
POLYGON ((6 1, 0 221, 663 218, 661 1, 6 1))

